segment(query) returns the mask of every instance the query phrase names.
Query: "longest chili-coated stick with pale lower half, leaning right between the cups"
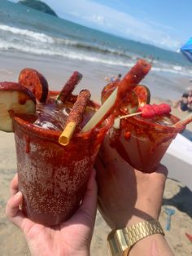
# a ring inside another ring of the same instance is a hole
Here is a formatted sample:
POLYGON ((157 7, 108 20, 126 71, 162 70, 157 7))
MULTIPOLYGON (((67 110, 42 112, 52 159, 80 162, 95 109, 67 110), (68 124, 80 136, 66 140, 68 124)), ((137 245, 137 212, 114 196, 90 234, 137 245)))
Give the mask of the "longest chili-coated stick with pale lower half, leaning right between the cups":
POLYGON ((141 82, 142 78, 146 76, 150 69, 151 64, 146 60, 138 60, 81 131, 87 131, 94 126, 99 126, 110 114, 114 114, 116 117, 130 91, 141 82))

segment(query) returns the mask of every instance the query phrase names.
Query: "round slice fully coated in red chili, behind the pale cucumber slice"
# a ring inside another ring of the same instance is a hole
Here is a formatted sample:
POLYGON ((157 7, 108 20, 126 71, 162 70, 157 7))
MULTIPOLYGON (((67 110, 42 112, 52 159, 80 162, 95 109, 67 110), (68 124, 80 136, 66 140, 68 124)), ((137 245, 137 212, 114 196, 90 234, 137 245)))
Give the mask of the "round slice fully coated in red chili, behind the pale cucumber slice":
POLYGON ((46 77, 33 68, 24 68, 20 71, 19 83, 28 88, 35 95, 37 102, 44 103, 49 91, 46 77))

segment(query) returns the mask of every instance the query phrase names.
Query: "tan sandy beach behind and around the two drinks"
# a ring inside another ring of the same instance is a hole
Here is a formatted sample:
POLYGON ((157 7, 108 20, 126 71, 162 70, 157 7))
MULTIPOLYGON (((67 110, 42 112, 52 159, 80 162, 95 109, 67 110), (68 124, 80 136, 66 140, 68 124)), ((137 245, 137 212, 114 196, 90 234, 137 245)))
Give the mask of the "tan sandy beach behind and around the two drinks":
MULTIPOLYGON (((79 70, 84 73, 85 80, 82 85, 78 86, 76 91, 82 89, 83 86, 92 90, 92 99, 100 98, 100 91, 106 84, 104 77, 106 73, 119 73, 116 67, 98 67, 98 65, 88 65, 83 62, 72 62, 68 59, 54 60, 53 62, 46 61, 44 57, 28 58, 27 55, 18 56, 17 54, 8 55, 2 53, 0 56, 0 76, 1 81, 17 81, 20 70, 25 67, 36 68, 43 73, 50 82, 50 89, 59 90, 60 86, 68 79, 72 71, 79 70)), ((120 70, 125 73, 126 68, 120 70)), ((185 80, 185 77, 183 78, 185 80)), ((186 80, 185 80, 186 81, 186 80)), ((152 98, 152 103, 159 103, 161 99, 152 98)), ((171 102, 168 102, 171 104, 171 102)), ((184 118, 187 113, 181 113, 175 108, 172 108, 172 113, 177 117, 184 118)), ((187 126, 184 131, 185 136, 190 138, 192 135, 192 123, 187 126)), ((1 256, 23 256, 29 255, 28 247, 20 230, 8 222, 5 216, 5 206, 9 198, 9 183, 16 172, 16 157, 15 157, 15 140, 12 133, 4 133, 0 131, 0 255, 1 256)), ((169 168, 174 170, 176 163, 169 158, 166 160, 170 164, 169 168)), ((165 230, 165 235, 169 245, 177 256, 186 256, 192 254, 192 244, 185 236, 185 232, 192 234, 192 191, 186 186, 187 180, 191 177, 185 177, 183 171, 183 179, 176 180, 167 179, 166 188, 164 191, 164 202, 160 214, 160 222, 165 230), (172 215, 171 228, 166 231, 166 222, 168 215, 165 208, 175 210, 172 215)), ((91 244, 91 255, 104 256, 107 253, 107 234, 110 228, 103 221, 103 218, 98 213, 96 225, 94 229, 94 237, 91 244)))

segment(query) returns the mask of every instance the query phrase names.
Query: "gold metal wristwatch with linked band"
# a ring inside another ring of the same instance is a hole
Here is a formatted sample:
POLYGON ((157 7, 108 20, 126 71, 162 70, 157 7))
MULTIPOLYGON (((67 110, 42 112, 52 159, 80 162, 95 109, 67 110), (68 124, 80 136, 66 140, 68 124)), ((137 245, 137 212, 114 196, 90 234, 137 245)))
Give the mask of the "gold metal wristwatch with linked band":
POLYGON ((153 234, 164 235, 164 230, 158 220, 151 219, 142 223, 135 223, 130 227, 112 230, 107 242, 112 256, 127 256, 129 249, 137 241, 153 234))

